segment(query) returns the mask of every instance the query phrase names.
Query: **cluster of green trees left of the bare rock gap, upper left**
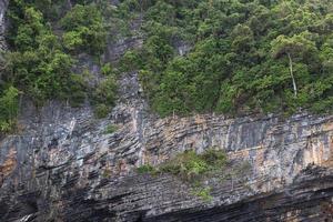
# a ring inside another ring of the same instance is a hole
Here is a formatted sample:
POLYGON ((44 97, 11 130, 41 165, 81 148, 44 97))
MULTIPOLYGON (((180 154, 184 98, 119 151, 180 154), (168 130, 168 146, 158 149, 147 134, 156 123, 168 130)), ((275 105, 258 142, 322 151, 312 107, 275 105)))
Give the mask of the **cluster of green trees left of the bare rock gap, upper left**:
POLYGON ((10 52, 4 56, 1 70, 0 97, 1 101, 11 99, 10 104, 16 108, 1 104, 4 108, 0 113, 0 132, 14 127, 19 94, 9 97, 8 93, 18 90, 37 104, 58 99, 77 107, 89 97, 97 113, 101 107, 108 112, 109 105, 114 104, 114 77, 109 74, 91 89, 84 73, 75 73, 73 69, 79 53, 99 57, 105 49, 107 26, 102 12, 90 2, 67 6, 68 2, 10 1, 7 12, 10 52))

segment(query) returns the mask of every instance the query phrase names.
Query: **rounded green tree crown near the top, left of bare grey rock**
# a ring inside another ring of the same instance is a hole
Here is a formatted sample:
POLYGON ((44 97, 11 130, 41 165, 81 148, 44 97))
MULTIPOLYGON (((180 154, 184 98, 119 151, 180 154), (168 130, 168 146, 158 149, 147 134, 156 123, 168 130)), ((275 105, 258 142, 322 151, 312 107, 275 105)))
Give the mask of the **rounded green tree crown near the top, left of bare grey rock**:
POLYGON ((105 48, 107 33, 103 19, 97 6, 75 4, 61 19, 64 29, 64 47, 73 52, 88 51, 100 54, 105 48))

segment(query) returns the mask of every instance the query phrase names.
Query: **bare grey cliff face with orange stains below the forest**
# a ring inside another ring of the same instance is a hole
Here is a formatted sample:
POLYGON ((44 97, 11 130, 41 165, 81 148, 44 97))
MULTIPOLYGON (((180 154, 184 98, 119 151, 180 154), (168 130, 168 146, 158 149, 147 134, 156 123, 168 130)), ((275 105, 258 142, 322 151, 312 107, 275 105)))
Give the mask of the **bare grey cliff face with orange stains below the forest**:
MULTIPOLYGON (((140 42, 109 46, 107 57, 140 42)), ((333 117, 159 119, 141 97, 138 73, 124 73, 119 84, 118 104, 103 120, 89 105, 22 104, 19 132, 0 141, 0 221, 333 220, 333 117), (105 133, 110 124, 117 131, 105 133), (211 201, 172 175, 135 172, 209 148, 225 150, 234 170, 206 181, 211 201), (249 168, 238 169, 244 162, 249 168)))

